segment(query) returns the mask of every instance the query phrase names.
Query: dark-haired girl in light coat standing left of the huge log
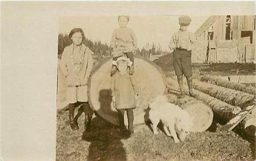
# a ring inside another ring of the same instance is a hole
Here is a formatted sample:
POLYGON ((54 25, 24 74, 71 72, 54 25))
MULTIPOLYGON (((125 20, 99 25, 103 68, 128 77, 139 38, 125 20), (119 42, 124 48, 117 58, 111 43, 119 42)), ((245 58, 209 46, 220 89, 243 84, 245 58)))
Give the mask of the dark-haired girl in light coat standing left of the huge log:
MULTIPOLYGON (((67 102, 69 103, 69 122, 72 130, 77 130, 77 119, 81 111, 74 118, 74 111, 77 102, 83 104, 85 121, 88 117, 88 123, 92 119, 93 111, 88 104, 87 81, 92 70, 92 50, 86 47, 82 42, 84 32, 81 28, 72 29, 69 33, 72 44, 65 47, 60 62, 60 69, 65 75, 67 81, 67 102)), ((84 123, 86 127, 86 122, 84 123)))

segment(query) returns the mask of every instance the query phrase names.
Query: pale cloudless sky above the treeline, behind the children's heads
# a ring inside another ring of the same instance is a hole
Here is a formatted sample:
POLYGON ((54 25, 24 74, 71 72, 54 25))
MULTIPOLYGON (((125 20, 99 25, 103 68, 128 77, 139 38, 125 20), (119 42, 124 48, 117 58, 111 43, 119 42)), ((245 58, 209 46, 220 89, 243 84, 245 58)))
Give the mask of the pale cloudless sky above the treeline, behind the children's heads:
MULTIPOLYGON (((189 31, 195 32, 209 16, 191 16, 189 31)), ((131 16, 127 27, 137 36, 141 49, 147 42, 161 44, 168 51, 168 44, 175 31, 179 30, 178 15, 131 16)), ((73 28, 81 27, 86 38, 109 45, 113 30, 118 28, 118 18, 114 16, 60 17, 59 33, 68 34, 73 28)))

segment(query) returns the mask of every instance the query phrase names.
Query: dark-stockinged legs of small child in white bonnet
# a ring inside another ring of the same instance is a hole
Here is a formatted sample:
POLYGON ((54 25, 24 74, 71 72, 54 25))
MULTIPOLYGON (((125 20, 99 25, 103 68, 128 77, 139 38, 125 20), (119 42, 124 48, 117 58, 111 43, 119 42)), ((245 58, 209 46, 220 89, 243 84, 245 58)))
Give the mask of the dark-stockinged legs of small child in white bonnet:
POLYGON ((127 118, 128 118, 128 130, 131 134, 133 134, 134 133, 134 130, 133 130, 134 116, 133 116, 132 109, 118 109, 117 110, 120 127, 123 130, 125 129, 125 125, 124 125, 124 112, 125 111, 127 113, 127 118))

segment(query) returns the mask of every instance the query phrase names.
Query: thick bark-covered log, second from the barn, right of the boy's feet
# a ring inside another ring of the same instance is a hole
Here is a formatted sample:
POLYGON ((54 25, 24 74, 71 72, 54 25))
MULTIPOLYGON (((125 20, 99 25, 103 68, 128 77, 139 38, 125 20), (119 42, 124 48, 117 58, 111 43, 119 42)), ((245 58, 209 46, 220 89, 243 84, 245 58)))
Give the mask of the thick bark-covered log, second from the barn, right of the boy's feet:
POLYGON ((193 80, 193 86, 198 91, 207 93, 208 95, 218 98, 219 100, 222 100, 230 105, 239 106, 241 109, 247 107, 248 105, 252 105, 255 101, 255 95, 216 86, 207 82, 197 81, 196 79, 193 80))

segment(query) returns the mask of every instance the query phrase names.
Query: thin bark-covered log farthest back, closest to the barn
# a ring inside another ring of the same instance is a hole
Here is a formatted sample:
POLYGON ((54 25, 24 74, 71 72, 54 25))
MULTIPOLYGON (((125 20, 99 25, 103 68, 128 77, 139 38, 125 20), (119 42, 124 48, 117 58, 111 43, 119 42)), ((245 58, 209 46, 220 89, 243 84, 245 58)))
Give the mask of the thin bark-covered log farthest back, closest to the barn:
POLYGON ((220 79, 218 77, 213 77, 211 75, 204 75, 201 78, 201 81, 210 82, 211 84, 215 84, 217 86, 235 89, 238 91, 243 91, 245 93, 250 93, 251 95, 255 95, 255 88, 253 88, 251 86, 246 86, 244 84, 239 84, 236 82, 225 81, 223 79, 220 79))

